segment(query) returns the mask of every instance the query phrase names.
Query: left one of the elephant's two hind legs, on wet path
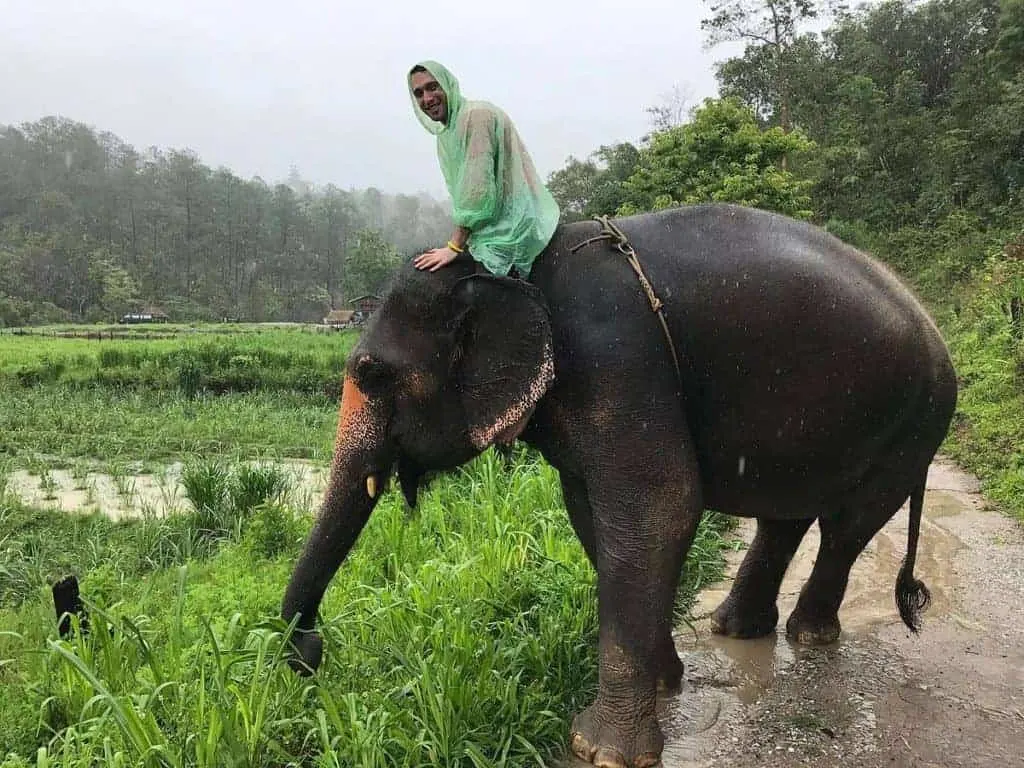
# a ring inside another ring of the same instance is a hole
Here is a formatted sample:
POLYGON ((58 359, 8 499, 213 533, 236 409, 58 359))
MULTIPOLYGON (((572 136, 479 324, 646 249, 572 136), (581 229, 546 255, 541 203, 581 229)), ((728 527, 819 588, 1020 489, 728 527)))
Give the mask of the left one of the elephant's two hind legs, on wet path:
POLYGON ((754 542, 728 597, 712 614, 712 631, 736 638, 769 635, 778 624, 776 600, 785 570, 813 518, 758 519, 754 542))

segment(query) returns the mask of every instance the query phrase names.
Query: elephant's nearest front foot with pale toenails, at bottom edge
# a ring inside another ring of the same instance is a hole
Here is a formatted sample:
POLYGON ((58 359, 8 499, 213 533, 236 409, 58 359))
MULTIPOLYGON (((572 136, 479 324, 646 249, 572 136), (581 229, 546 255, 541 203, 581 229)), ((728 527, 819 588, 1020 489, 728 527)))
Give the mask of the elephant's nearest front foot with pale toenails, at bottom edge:
POLYGON ((643 717, 634 733, 615 725, 611 717, 636 722, 621 711, 602 717, 597 702, 572 720, 569 743, 572 754, 597 768, 654 768, 662 765, 665 737, 653 714, 643 717))

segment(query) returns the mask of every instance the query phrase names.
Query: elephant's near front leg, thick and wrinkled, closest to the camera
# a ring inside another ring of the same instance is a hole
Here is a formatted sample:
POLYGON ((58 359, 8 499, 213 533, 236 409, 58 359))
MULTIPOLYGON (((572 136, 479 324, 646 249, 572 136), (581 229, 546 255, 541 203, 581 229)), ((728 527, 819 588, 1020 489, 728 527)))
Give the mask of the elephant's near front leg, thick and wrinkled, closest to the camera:
MULTIPOLYGON (((668 438, 679 444, 679 433, 668 438)), ((598 573, 599 687, 572 723, 573 753, 598 766, 658 765, 664 641, 701 509, 695 463, 656 437, 588 478, 598 573), (660 443, 660 444, 659 444, 660 443), (667 458, 666 455, 669 455, 667 458), (671 465, 671 466, 666 466, 671 465)))

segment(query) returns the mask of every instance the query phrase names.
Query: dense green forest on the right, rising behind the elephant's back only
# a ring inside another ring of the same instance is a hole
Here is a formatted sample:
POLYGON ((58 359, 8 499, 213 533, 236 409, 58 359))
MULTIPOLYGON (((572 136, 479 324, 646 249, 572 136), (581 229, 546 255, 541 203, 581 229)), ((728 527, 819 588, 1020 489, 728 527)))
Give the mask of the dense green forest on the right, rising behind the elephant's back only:
POLYGON ((718 66, 719 97, 685 120, 653 109, 639 145, 570 158, 551 179, 567 216, 706 200, 779 210, 936 299, 1021 231, 1022 0, 705 4, 708 44, 743 43, 718 66))

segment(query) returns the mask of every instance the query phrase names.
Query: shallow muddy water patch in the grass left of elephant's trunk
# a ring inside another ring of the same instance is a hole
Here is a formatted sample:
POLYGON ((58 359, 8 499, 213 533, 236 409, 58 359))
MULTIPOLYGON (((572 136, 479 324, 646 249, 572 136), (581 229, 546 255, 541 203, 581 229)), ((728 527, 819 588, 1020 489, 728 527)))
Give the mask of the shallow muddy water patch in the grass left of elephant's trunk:
MULTIPOLYGON (((272 462, 272 465, 284 470, 289 478, 291 503, 304 509, 318 506, 327 485, 326 466, 298 460, 272 462)), ((164 517, 191 508, 181 479, 182 466, 177 462, 143 472, 132 466, 110 471, 108 467, 91 464, 61 469, 40 465, 8 472, 0 478, 0 490, 5 488, 24 503, 43 509, 100 512, 115 520, 164 517)))

